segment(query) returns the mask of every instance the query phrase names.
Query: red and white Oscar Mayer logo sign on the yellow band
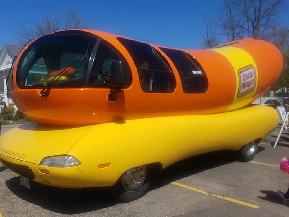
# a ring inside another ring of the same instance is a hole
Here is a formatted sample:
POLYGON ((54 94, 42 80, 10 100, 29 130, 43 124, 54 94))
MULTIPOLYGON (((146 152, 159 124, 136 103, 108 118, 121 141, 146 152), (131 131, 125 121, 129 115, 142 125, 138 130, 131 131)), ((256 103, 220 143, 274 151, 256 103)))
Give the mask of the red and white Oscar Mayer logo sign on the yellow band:
POLYGON ((239 74, 238 97, 241 97, 255 89, 256 72, 254 66, 249 65, 239 69, 238 74, 239 74))

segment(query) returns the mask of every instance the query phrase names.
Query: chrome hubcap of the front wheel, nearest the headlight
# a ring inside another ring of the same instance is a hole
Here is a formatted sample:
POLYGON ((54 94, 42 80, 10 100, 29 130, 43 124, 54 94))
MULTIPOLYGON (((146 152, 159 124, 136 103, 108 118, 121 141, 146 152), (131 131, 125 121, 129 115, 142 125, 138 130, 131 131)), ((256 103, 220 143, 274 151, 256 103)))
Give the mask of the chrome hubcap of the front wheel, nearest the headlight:
POLYGON ((136 192, 144 184, 146 173, 144 165, 127 170, 121 175, 122 186, 128 192, 136 192))

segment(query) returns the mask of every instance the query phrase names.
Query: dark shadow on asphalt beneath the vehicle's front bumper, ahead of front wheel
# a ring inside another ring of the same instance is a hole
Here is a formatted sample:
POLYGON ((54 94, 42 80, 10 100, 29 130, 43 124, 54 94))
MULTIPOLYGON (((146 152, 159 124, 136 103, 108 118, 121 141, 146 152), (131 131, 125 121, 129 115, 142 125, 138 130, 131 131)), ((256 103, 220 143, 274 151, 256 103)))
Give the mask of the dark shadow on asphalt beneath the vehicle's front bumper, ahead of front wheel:
POLYGON ((22 200, 61 214, 86 213, 118 203, 106 188, 61 189, 30 182, 29 190, 20 185, 19 177, 7 180, 6 186, 22 200))

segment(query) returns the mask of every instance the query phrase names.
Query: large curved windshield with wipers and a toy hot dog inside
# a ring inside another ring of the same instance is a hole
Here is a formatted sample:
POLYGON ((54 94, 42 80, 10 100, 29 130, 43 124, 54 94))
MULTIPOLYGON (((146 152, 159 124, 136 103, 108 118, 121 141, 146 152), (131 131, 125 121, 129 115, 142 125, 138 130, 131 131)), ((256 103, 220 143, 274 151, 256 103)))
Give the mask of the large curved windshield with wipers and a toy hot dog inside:
POLYGON ((80 35, 46 35, 32 43, 17 67, 17 86, 43 88, 82 86, 85 57, 93 38, 80 35), (79 60, 79 61, 77 61, 79 60), (65 69, 65 74, 61 73, 65 69))

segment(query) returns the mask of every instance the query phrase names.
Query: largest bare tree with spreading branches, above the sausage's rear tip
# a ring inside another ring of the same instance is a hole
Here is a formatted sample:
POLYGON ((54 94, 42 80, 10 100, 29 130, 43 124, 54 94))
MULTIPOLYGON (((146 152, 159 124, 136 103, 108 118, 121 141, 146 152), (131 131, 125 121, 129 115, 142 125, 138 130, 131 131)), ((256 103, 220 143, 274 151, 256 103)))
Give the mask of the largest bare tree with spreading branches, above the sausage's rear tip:
POLYGON ((284 0, 240 0, 244 25, 248 37, 266 39, 276 24, 280 11, 285 9, 284 0))

